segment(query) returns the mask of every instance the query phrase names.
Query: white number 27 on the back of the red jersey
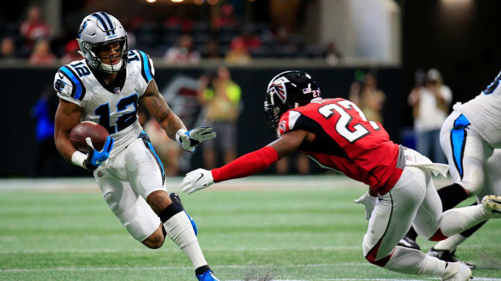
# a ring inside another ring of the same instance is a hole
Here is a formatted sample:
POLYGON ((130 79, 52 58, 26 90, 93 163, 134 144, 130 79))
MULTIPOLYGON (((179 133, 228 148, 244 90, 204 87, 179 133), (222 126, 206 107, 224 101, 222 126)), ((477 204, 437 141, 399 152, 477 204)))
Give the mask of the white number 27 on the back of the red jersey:
MULTIPOLYGON (((360 123, 352 124, 353 117, 351 116, 349 111, 353 112, 354 114, 358 114, 358 116, 360 116, 363 121, 367 121, 367 118, 365 118, 365 114, 363 114, 362 110, 360 110, 351 101, 338 101, 336 103, 329 103, 319 108, 319 113, 324 115, 326 119, 333 117, 333 115, 335 115, 336 113, 340 114, 340 118, 337 119, 335 124, 335 130, 338 134, 342 135, 344 139, 347 139, 348 142, 353 144, 354 142, 358 141, 358 139, 369 135, 370 132, 369 130, 367 130, 367 128, 365 128, 365 126, 360 123), (351 110, 356 110, 356 113, 351 110), (353 125, 353 130, 349 128, 350 125, 353 125)), ((369 124, 374 130, 381 130, 376 122, 369 121, 369 124)))

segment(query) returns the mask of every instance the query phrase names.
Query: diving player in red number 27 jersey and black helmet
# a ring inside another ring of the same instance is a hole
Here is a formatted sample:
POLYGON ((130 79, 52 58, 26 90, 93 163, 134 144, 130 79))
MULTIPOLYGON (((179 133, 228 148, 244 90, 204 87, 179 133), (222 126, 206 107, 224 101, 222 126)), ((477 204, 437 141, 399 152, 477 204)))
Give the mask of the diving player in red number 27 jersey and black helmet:
POLYGON ((187 173, 183 191, 192 193, 214 182, 250 176, 297 149, 322 167, 369 185, 369 191, 356 200, 365 205, 369 219, 363 239, 369 262, 390 271, 444 280, 471 277, 463 263, 447 263, 396 245, 411 225, 421 237, 438 241, 501 217, 501 197, 486 196, 482 205, 443 213, 431 173, 445 175, 447 165, 434 164, 393 143, 381 124, 368 121, 350 101, 321 99, 317 83, 303 71, 285 71, 271 80, 264 111, 268 125, 277 132, 275 142, 221 168, 187 173))

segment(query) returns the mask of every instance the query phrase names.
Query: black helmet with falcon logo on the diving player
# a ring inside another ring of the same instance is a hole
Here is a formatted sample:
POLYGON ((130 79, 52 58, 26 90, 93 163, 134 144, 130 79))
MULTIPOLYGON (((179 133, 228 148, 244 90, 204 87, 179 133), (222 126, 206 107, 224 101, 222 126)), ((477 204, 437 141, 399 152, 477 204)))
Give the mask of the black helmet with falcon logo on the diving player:
POLYGON ((320 88, 310 74, 303 71, 285 71, 271 79, 264 99, 267 125, 276 131, 280 117, 287 110, 307 105, 312 99, 321 99, 320 88))

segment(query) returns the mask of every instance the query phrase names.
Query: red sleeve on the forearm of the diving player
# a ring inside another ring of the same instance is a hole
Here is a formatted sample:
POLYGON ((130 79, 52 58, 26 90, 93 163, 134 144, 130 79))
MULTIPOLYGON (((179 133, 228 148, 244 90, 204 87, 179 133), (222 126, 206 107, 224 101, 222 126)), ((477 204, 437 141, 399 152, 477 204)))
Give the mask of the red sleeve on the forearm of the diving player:
POLYGON ((264 146, 260 150, 247 153, 223 167, 212 170, 214 182, 231 180, 232 178, 245 178, 267 169, 269 165, 278 161, 278 153, 271 146, 264 146))

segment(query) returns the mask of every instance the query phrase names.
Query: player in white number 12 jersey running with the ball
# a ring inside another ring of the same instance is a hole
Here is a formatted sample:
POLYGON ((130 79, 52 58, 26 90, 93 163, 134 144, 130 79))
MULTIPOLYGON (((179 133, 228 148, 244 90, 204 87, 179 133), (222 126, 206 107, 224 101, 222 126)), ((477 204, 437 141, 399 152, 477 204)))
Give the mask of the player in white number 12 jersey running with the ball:
POLYGON ((54 136, 58 151, 93 171, 104 200, 132 237, 148 248, 160 248, 168 236, 193 262, 198 280, 218 280, 198 246, 196 225, 177 194, 167 192, 164 167, 138 122, 138 100, 186 151, 193 152, 216 133, 210 127, 186 130, 159 94, 150 58, 127 49, 127 33, 116 17, 88 15, 77 40, 85 59, 63 65, 54 79, 60 98, 54 136), (108 130, 111 137, 102 151, 90 139, 88 154, 72 146, 68 135, 80 121, 94 121, 108 130))

